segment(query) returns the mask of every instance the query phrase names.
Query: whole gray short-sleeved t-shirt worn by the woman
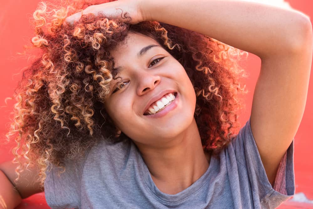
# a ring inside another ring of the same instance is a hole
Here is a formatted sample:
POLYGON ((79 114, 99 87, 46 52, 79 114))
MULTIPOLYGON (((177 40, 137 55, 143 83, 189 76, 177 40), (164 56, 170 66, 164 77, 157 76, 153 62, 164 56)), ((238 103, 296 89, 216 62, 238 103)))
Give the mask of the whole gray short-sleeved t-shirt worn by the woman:
POLYGON ((274 188, 267 179, 250 119, 209 168, 185 190, 169 195, 154 184, 136 145, 94 146, 82 160, 68 161, 57 175, 53 167, 44 184, 51 208, 275 208, 295 192, 294 143, 280 163, 274 188), (284 162, 283 162, 284 161, 284 162), (279 185, 279 186, 277 186, 279 185), (278 189, 277 189, 278 188, 278 189))

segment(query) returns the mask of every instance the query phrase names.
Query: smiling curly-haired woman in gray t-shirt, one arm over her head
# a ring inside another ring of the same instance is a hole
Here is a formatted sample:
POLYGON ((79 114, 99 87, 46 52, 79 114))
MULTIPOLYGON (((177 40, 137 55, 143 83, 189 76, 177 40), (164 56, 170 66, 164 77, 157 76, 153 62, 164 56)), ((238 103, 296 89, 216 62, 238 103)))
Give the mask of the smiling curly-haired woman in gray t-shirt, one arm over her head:
POLYGON ((34 13, 43 54, 24 73, 8 136, 21 133, 15 159, 36 162, 52 208, 275 208, 294 194, 305 15, 221 0, 50 11, 34 13), (216 39, 262 60, 238 134, 241 53, 216 39))

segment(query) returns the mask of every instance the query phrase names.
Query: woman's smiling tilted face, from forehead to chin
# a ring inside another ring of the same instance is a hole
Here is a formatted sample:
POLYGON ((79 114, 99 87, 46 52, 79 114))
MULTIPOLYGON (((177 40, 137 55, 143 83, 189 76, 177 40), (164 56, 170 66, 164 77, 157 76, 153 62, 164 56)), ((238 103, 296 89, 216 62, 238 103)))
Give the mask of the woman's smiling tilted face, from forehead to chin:
POLYGON ((126 45, 111 52, 114 67, 123 68, 117 76, 123 79, 124 86, 112 93, 115 83, 120 81, 113 80, 111 94, 104 105, 117 128, 134 142, 163 146, 162 142, 176 138, 191 124, 196 94, 184 67, 156 40, 137 33, 130 33, 128 37, 126 45), (151 44, 158 46, 138 56, 140 50, 151 44), (176 98, 165 106, 167 109, 150 116, 145 114, 151 102, 158 106, 157 101, 170 92, 176 98))

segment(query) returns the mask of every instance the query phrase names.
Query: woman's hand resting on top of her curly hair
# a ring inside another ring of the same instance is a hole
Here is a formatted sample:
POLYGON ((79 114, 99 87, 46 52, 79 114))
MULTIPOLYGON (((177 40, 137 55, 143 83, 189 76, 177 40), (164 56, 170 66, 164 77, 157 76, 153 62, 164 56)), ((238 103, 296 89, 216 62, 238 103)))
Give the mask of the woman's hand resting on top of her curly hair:
POLYGON ((145 20, 145 15, 142 11, 142 1, 141 0, 117 0, 114 2, 102 3, 97 5, 91 5, 81 12, 72 14, 65 19, 66 22, 73 25, 75 21, 78 21, 82 15, 93 13, 97 14, 102 12, 110 19, 118 19, 121 22, 129 20, 128 18, 123 19, 122 16, 127 12, 132 18, 130 24, 137 24, 145 20), (123 13, 123 15, 122 15, 123 13))

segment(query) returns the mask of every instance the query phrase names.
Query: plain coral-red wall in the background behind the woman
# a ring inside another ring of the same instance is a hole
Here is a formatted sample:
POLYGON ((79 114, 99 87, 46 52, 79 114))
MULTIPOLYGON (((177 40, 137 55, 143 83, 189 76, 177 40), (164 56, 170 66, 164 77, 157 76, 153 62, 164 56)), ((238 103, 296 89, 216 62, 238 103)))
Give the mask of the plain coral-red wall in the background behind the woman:
MULTIPOLYGON (((279 0, 277 0, 279 1, 279 0)), ((0 13, 0 133, 3 140, 4 134, 8 130, 8 115, 12 110, 13 102, 8 102, 5 106, 4 98, 13 94, 13 89, 21 75, 20 69, 27 65, 27 60, 14 58, 17 52, 23 51, 23 45, 30 42, 33 30, 29 26, 31 17, 39 0, 15 0, 3 1, 0 13), (15 75, 18 74, 18 75, 15 75)), ((281 1, 280 1, 281 2, 281 1)), ((308 16, 313 16, 313 2, 311 0, 288 0, 292 8, 297 9, 308 16)), ((261 60, 249 54, 248 60, 242 62, 242 66, 247 69, 250 77, 245 81, 249 93, 245 97, 246 109, 240 114, 242 125, 248 120, 254 87, 260 72, 261 60)), ((295 136, 295 184, 296 194, 304 193, 306 198, 294 198, 296 202, 285 203, 279 208, 294 208, 302 206, 309 208, 313 204, 306 204, 313 200, 313 140, 310 131, 313 130, 313 73, 311 73, 307 103, 302 122, 295 136)), ((13 159, 13 144, 0 146, 0 163, 13 159)), ((312 201, 313 202, 313 201, 312 201)), ((311 203, 312 203, 311 202, 311 203)), ((36 194, 23 200, 18 208, 49 208, 44 199, 44 194, 36 194)))

